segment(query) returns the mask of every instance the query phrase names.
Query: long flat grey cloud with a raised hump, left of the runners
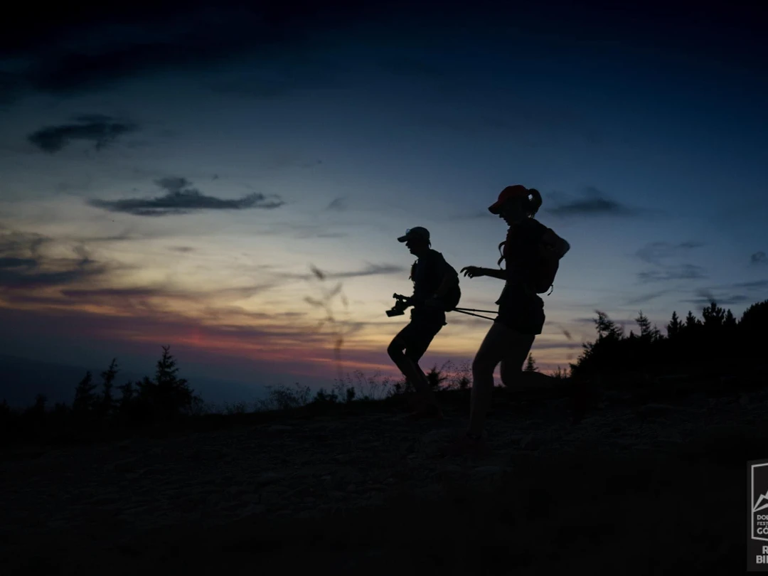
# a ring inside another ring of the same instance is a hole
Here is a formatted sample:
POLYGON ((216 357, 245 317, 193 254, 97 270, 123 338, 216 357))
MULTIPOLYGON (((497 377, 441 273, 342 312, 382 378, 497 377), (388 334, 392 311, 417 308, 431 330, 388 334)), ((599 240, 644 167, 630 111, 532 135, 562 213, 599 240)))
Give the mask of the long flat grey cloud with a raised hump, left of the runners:
POLYGON ((285 202, 276 194, 248 194, 237 200, 222 200, 206 196, 200 190, 190 187, 186 178, 169 177, 156 180, 156 184, 166 191, 161 197, 127 198, 124 200, 88 200, 88 204, 111 212, 124 212, 134 216, 168 216, 189 214, 194 210, 246 210, 259 208, 271 210, 283 206, 285 202))

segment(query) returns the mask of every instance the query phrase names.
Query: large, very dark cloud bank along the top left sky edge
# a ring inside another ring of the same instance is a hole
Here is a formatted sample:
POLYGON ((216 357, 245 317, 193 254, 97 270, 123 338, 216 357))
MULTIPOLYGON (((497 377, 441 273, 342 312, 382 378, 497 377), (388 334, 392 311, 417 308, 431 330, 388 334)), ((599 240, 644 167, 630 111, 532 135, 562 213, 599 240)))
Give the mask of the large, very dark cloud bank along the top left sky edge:
POLYGON ((319 33, 352 24, 369 11, 349 0, 253 6, 225 0, 164 3, 156 11, 141 5, 104 6, 81 11, 78 19, 60 13, 55 28, 30 18, 25 34, 0 44, 0 58, 8 55, 25 63, 7 73, 9 78, 0 78, 0 90, 5 86, 0 97, 25 90, 88 91, 167 70, 213 68, 234 56, 313 55, 319 33))

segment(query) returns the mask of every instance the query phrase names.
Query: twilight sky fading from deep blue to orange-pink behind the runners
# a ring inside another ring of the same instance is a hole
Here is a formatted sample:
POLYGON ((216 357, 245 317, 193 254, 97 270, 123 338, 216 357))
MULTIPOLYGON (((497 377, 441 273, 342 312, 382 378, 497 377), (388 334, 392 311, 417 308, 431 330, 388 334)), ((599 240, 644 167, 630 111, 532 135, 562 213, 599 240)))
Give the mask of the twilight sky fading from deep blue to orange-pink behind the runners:
MULTIPOLYGON (((541 190, 538 219, 571 243, 545 369, 594 339, 596 309, 662 328, 768 298, 758 8, 267 4, 3 22, 5 353, 147 373, 170 344, 193 387, 314 386, 340 330, 343 370, 394 374, 396 237, 425 226, 457 270, 495 266, 487 207, 509 184, 541 190)), ((462 277, 462 306, 501 290, 462 277)), ((489 324, 449 314, 423 364, 471 359, 489 324)))

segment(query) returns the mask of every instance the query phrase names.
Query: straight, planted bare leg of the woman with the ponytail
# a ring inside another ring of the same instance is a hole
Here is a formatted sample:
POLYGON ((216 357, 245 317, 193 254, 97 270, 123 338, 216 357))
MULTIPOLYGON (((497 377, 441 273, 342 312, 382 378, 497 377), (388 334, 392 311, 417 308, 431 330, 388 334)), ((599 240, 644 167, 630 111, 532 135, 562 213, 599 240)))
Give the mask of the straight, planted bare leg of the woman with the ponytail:
POLYGON ((472 435, 482 435, 485 416, 493 393, 493 372, 509 346, 511 329, 495 322, 485 335, 480 349, 472 361, 472 402, 469 409, 469 429, 472 435))

